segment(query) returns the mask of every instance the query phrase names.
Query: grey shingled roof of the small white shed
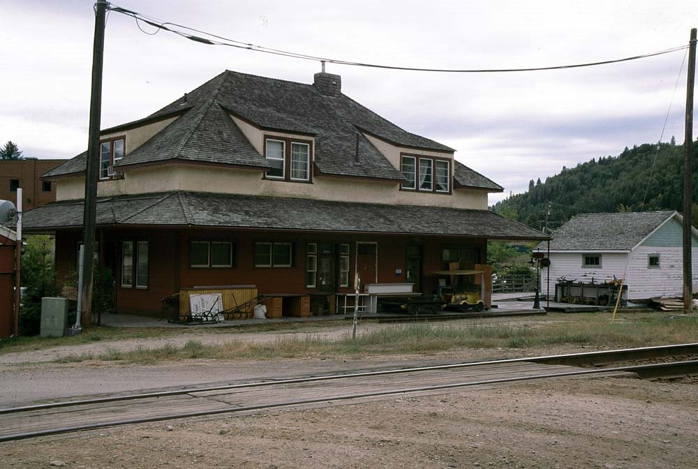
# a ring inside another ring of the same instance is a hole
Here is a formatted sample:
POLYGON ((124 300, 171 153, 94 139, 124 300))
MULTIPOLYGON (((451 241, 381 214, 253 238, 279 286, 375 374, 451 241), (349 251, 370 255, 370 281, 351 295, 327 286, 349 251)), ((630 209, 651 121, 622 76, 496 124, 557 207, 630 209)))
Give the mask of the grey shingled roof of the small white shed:
POLYGON ((579 214, 551 234, 550 250, 631 251, 674 215, 676 211, 579 214))

